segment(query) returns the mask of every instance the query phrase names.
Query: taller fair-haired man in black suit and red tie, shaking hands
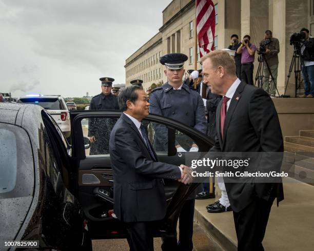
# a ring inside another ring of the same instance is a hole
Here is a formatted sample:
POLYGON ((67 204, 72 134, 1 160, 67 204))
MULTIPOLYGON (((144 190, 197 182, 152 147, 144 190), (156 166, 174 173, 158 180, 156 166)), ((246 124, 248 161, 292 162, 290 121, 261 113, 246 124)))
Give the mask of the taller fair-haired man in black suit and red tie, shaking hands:
MULTIPOLYGON (((234 60, 217 50, 202 57, 204 81, 214 94, 223 96, 217 107, 217 137, 208 153, 259 153, 262 156, 249 168, 279 172, 283 139, 277 111, 262 89, 241 82, 235 75, 234 60)), ((259 156, 260 157, 260 156, 259 156)), ((245 178, 239 182, 224 178, 233 209, 238 250, 264 250, 262 241, 273 200, 283 200, 281 179, 245 178)))

